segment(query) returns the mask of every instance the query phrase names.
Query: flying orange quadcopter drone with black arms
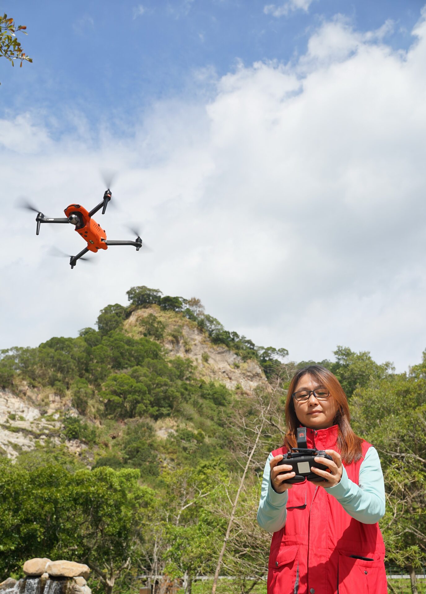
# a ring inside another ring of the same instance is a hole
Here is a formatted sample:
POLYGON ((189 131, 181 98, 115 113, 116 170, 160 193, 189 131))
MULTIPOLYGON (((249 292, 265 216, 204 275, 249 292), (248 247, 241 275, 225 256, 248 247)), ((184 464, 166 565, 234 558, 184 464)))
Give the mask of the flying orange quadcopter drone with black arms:
MULTIPOLYGON (((97 213, 98 210, 102 208, 102 214, 105 214, 106 207, 108 206, 109 201, 111 200, 111 190, 107 189, 105 194, 103 195, 103 200, 97 206, 92 208, 90 211, 87 211, 86 208, 81 206, 80 204, 70 204, 65 208, 64 213, 67 215, 67 218, 63 219, 49 219, 45 217, 45 215, 34 208, 31 204, 26 203, 23 206, 25 208, 29 208, 29 210, 34 210, 37 213, 36 221, 37 221, 37 230, 36 235, 39 235, 40 225, 41 223, 71 223, 71 225, 75 226, 75 231, 78 235, 87 242, 87 247, 82 249, 76 256, 70 256, 70 265, 71 268, 74 268, 77 260, 87 254, 87 252, 91 251, 96 254, 99 249, 108 249, 110 245, 133 245, 136 248, 136 251, 142 247, 142 240, 139 237, 139 233, 137 230, 133 230, 134 233, 137 235, 135 241, 111 241, 111 239, 106 239, 105 229, 100 228, 98 223, 92 219, 94 213, 97 213)), ((87 258, 83 258, 85 260, 87 258)))

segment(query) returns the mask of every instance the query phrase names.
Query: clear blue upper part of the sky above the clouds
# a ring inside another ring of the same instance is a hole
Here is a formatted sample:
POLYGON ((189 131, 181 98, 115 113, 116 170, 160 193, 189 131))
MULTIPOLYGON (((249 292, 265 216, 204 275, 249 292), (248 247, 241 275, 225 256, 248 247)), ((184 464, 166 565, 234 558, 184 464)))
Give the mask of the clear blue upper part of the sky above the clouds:
MULTIPOLYGON (((273 6, 285 4, 278 0, 273 6)), ((27 25, 22 43, 34 62, 24 65, 24 74, 1 64, 1 109, 31 106, 60 116, 72 108, 91 125, 99 119, 131 125, 157 99, 209 92, 208 86, 194 84, 195 71, 214 70, 221 77, 238 61, 296 59, 315 27, 336 14, 364 31, 394 21, 387 43, 406 49, 422 2, 313 0, 307 11, 289 10, 280 17, 265 12, 269 5, 257 0, 2 2, 0 11, 27 25)))

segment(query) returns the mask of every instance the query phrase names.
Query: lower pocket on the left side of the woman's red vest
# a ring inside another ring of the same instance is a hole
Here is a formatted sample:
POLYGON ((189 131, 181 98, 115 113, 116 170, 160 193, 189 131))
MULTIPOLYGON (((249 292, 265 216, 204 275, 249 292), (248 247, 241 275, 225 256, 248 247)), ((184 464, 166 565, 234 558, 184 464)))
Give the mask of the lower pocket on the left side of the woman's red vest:
POLYGON ((292 545, 280 548, 276 556, 271 555, 268 594, 294 594, 299 563, 298 552, 299 546, 292 545))

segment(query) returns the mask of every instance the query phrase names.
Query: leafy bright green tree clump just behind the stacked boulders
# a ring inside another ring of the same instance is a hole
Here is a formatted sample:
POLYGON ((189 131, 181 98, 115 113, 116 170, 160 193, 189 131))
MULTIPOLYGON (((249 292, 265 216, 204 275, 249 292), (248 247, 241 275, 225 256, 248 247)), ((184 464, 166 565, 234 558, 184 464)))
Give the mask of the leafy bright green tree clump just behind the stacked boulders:
POLYGON ((137 557, 140 526, 154 503, 138 470, 29 470, 0 460, 0 471, 0 576, 30 557, 72 557, 112 594, 137 557))

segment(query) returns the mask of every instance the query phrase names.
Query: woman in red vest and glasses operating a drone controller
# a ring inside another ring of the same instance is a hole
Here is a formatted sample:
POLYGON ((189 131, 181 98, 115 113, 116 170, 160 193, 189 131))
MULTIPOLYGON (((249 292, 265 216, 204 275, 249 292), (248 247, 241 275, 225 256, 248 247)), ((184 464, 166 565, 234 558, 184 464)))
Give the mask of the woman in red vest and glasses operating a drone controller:
POLYGON ((328 369, 310 365, 291 381, 285 406, 283 447, 267 459, 257 520, 273 532, 268 594, 387 594, 384 482, 374 447, 351 429, 346 394, 328 369), (296 447, 299 426, 307 447, 332 460, 311 467, 318 481, 291 485, 283 454, 296 447), (324 481, 323 479, 326 479, 324 481))

